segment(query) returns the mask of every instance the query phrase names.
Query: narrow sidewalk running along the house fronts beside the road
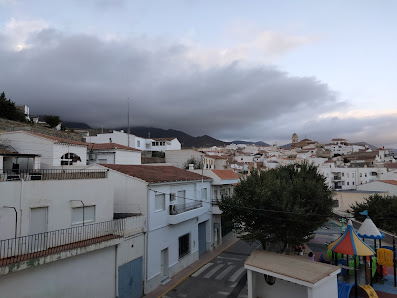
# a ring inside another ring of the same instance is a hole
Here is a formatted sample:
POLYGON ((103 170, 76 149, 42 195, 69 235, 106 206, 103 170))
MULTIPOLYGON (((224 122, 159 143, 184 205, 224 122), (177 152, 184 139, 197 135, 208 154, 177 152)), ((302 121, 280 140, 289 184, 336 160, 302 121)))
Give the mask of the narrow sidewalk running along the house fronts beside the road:
POLYGON ((232 236, 228 240, 224 241, 220 246, 215 248, 213 251, 209 251, 201 255, 200 259, 198 259, 196 262, 190 264, 185 269, 172 276, 171 281, 169 281, 167 284, 157 287, 156 289, 154 289, 144 297, 157 298, 164 296, 173 288, 175 288, 180 283, 182 283, 185 279, 187 279, 190 275, 192 275, 194 272, 200 269, 202 266, 209 263, 212 259, 216 258, 219 254, 221 254, 224 250, 228 249, 230 246, 236 243, 238 240, 239 238, 237 238, 236 236, 232 236))

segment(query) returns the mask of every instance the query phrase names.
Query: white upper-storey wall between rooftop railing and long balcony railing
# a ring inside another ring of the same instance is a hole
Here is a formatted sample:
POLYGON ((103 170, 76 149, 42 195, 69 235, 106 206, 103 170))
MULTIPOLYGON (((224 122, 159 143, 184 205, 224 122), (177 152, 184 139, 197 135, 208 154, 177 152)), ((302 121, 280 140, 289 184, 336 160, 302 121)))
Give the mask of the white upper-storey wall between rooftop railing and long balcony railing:
MULTIPOLYGON (((72 208, 95 205, 95 222, 113 219, 113 190, 108 179, 74 179, 0 182, 0 206, 18 212, 18 236, 29 233, 30 209, 48 208, 48 231, 72 225, 72 208)), ((14 237, 15 213, 0 208, 0 238, 14 237)))

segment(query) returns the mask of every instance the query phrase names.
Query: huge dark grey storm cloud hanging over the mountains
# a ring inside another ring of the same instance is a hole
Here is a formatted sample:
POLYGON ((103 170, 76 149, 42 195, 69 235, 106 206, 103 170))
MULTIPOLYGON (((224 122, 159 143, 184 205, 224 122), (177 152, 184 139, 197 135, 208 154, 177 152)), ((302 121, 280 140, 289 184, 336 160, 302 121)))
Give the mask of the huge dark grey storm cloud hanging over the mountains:
POLYGON ((238 62, 203 68, 186 58, 191 49, 181 44, 103 41, 51 29, 32 36, 31 48, 20 52, 6 43, 0 36, 0 91, 33 114, 93 126, 126 125, 130 97, 134 126, 248 138, 264 123, 313 116, 338 102, 313 77, 238 62))

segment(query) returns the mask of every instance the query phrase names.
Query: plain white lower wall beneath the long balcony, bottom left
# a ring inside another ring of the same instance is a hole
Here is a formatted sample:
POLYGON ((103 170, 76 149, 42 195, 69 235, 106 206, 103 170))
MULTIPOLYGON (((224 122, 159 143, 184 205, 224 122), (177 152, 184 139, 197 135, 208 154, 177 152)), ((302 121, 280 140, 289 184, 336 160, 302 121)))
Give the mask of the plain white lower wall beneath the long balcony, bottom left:
POLYGON ((114 246, 95 250, 4 275, 0 292, 4 297, 115 297, 114 263, 114 246))

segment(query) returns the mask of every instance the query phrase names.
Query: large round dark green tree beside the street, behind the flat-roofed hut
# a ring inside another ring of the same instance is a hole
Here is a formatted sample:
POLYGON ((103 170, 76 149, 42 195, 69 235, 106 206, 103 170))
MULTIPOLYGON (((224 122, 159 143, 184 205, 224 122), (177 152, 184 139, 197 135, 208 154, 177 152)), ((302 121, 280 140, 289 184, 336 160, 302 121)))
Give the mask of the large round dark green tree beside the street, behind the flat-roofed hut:
POLYGON ((332 190, 317 167, 288 165, 253 171, 230 197, 218 202, 236 232, 247 241, 281 245, 280 252, 303 244, 332 216, 332 190))

